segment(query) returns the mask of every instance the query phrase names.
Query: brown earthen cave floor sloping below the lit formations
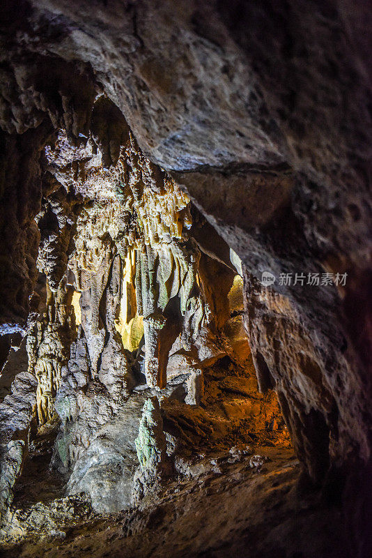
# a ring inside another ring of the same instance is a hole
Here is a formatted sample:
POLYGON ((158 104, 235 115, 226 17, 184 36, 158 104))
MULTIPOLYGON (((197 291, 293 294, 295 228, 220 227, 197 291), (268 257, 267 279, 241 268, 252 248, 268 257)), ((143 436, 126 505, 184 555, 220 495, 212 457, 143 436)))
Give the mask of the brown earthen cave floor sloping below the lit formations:
POLYGON ((291 448, 252 445, 200 455, 185 477, 137 509, 102 516, 79 495, 56 499, 54 511, 70 513, 64 528, 49 527, 47 534, 40 525, 3 545, 3 556, 347 557, 341 513, 319 495, 300 495, 299 475, 291 448))

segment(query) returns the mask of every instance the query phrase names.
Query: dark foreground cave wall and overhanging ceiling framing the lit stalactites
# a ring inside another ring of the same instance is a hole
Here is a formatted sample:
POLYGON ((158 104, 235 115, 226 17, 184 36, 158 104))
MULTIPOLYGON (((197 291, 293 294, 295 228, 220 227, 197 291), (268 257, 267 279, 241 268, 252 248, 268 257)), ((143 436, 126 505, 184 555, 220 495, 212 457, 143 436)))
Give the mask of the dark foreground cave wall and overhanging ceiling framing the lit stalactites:
MULTIPOLYGON (((93 10, 91 2, 48 0, 7 1, 1 10, 1 145, 13 165, 4 167, 1 198, 3 269, 12 271, 2 277, 2 323, 24 324, 36 280, 33 217, 42 191, 61 183, 40 160, 42 147, 63 128, 81 151, 100 146, 103 168, 116 165, 129 135, 118 126, 124 115, 151 165, 242 259, 261 389, 277 389, 313 479, 331 463, 366 463, 368 6, 97 1, 93 10), (262 287, 263 271, 348 278, 345 288, 278 279, 262 287)), ((68 163, 75 176, 80 158, 68 163)))

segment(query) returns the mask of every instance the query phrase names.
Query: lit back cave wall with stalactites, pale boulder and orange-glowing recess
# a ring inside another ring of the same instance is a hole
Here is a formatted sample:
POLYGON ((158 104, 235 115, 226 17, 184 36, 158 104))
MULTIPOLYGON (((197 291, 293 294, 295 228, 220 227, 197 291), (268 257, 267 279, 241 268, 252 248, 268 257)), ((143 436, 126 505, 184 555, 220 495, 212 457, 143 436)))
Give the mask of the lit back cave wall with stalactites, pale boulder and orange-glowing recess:
MULTIPOLYGON (((95 511, 116 512, 154 491, 157 472, 183 470, 172 465, 180 447, 195 450, 211 432, 217 445, 232 432, 244 438, 247 424, 275 437, 281 421, 274 394, 257 393, 238 257, 217 235, 206 248, 206 220, 144 156, 111 101, 93 105, 94 130, 107 113, 120 131, 115 164, 104 166, 94 132, 77 145, 59 130, 45 147, 49 188, 35 218, 39 280, 27 333, 36 420, 25 432, 33 439, 36 426, 61 421, 52 467, 67 494, 85 492, 95 511), (136 473, 139 455, 159 450, 150 434, 147 449, 135 442, 154 398, 167 416, 167 455, 136 473)), ((287 441, 282 423, 281 434, 287 441)), ((27 447, 4 508, 26 460, 27 447)))

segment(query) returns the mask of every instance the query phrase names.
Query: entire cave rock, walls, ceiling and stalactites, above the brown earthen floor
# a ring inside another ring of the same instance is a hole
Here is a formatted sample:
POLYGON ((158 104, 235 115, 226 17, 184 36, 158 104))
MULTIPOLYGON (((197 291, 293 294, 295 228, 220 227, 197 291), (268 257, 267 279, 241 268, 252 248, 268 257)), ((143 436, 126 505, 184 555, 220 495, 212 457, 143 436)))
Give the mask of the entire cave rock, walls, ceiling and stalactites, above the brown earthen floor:
POLYGON ((299 486, 369 556, 371 19, 359 0, 3 2, 6 544, 49 511, 65 532, 68 502, 150 509, 206 455, 223 476, 229 447, 234 467, 255 441, 288 451, 288 429, 299 486), (65 484, 50 506, 22 500, 35 460, 65 484))

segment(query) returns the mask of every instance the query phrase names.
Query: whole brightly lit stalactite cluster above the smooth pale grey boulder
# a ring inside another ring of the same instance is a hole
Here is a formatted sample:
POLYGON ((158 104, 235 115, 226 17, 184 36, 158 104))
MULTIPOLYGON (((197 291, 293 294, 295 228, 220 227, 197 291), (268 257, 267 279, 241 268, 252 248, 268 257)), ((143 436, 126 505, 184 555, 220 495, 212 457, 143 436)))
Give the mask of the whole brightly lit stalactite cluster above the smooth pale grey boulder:
MULTIPOLYGON (((109 167, 93 135, 75 145, 61 130, 45 149, 36 223, 46 285, 41 299, 34 296, 27 351, 38 425, 56 413, 62 421, 54 464, 75 471, 69 490, 81 486, 79 460, 88 460, 95 432, 127 409, 139 382, 135 370, 149 388, 164 389, 169 354, 179 354, 185 402, 196 405, 203 396, 200 361, 224 355, 213 339, 228 311, 221 318, 210 285, 215 264, 194 239, 189 199, 121 126, 109 167)), ((227 267, 222 272, 221 299, 233 276, 227 267)), ((143 404, 134 404, 139 415, 143 404)))

